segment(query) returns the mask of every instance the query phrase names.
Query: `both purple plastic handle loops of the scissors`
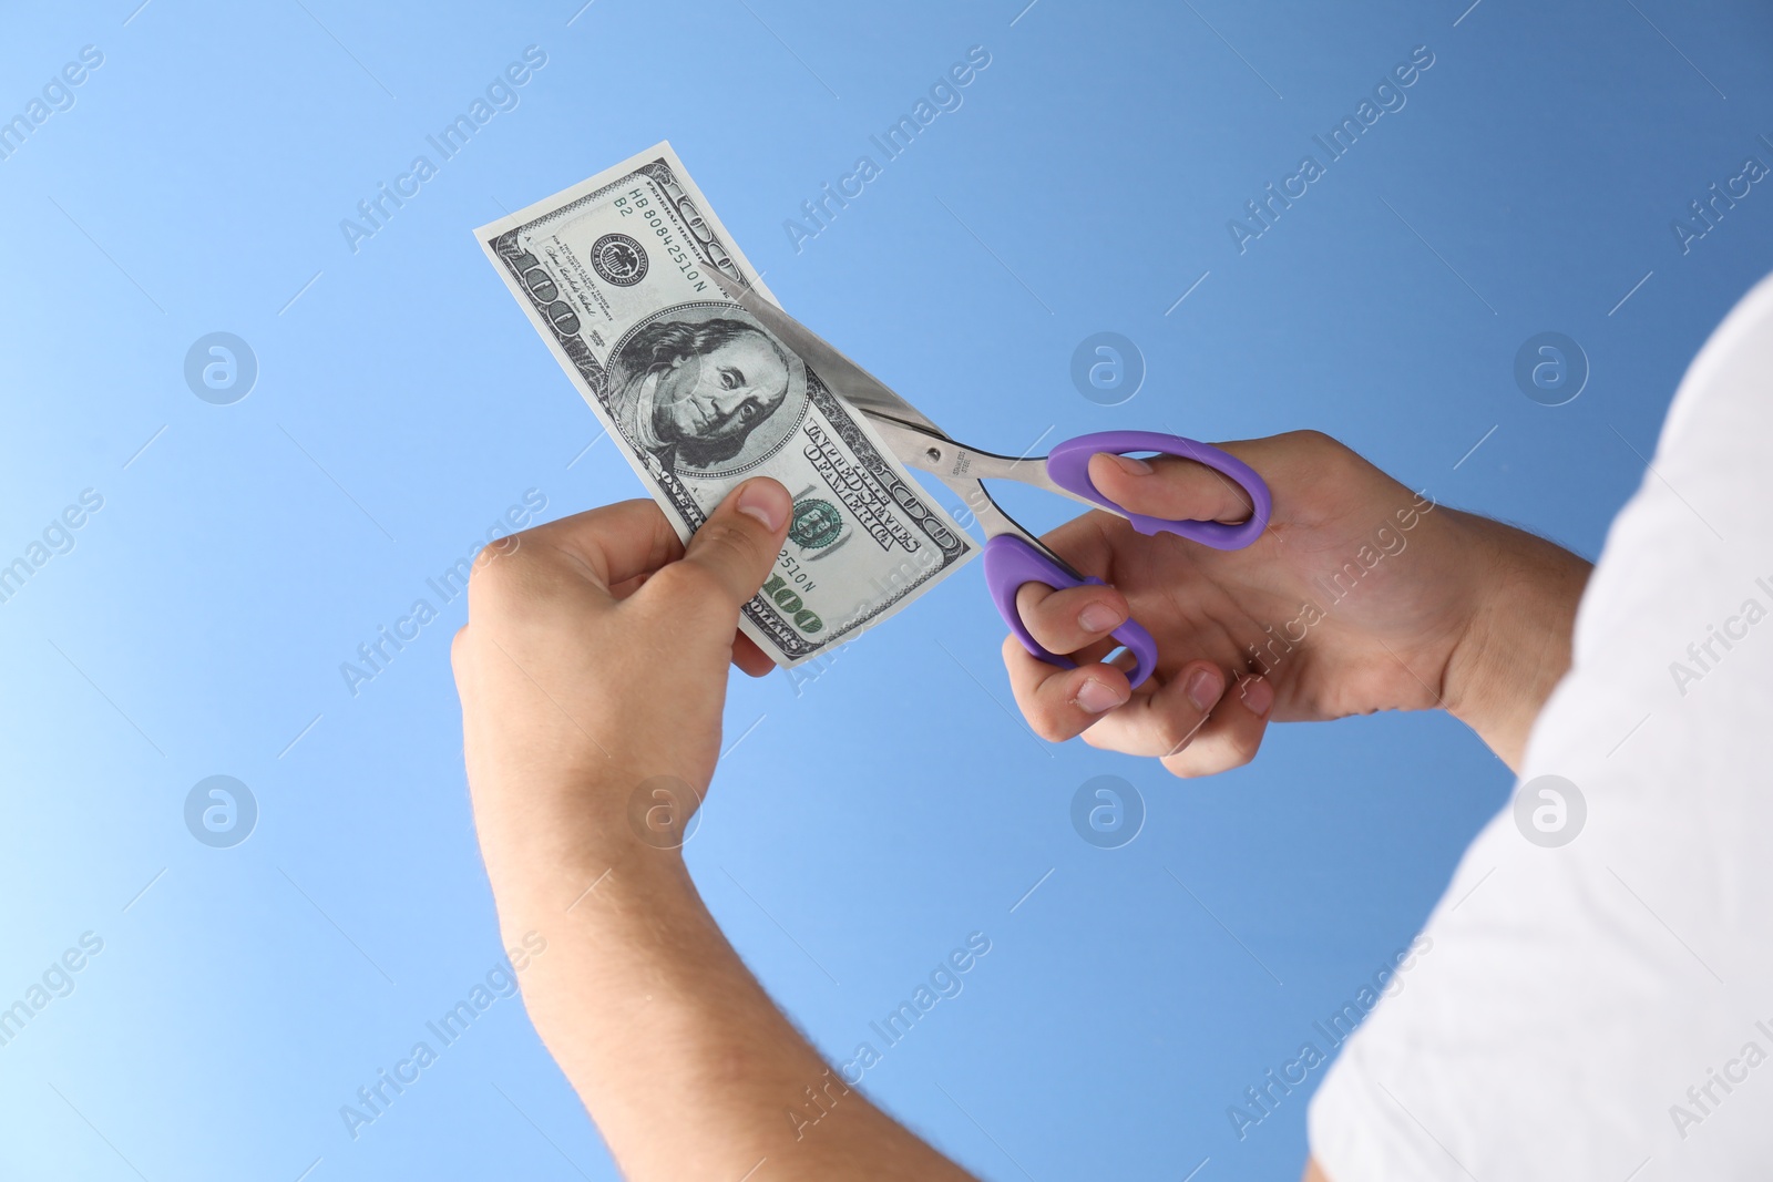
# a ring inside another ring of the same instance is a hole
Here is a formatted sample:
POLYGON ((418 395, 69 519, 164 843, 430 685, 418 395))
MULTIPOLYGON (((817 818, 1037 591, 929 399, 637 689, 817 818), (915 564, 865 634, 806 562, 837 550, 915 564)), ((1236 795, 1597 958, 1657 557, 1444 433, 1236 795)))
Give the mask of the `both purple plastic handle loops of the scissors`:
MULTIPOLYGON (((1273 510, 1273 496, 1268 491, 1268 484, 1241 459, 1216 447, 1156 431, 1101 431, 1067 439, 1046 457, 1046 475, 1060 487, 1124 516, 1140 533, 1175 533, 1193 542, 1213 546, 1215 549, 1241 549, 1248 546, 1268 528, 1268 517, 1273 510), (1250 519, 1241 525, 1225 525, 1222 521, 1170 521, 1167 517, 1128 512, 1103 496, 1090 482, 1089 464, 1090 455, 1096 452, 1112 452, 1117 455, 1128 452, 1161 452, 1206 464, 1223 473, 1245 491, 1254 507, 1250 519)), ((1044 583, 1055 590, 1064 590, 1069 587, 1099 587, 1101 579, 1080 576, 1014 533, 996 533, 986 540, 986 587, 991 590, 991 601, 996 604, 998 615, 1004 617, 1004 622, 1030 654, 1058 668, 1076 668, 1076 663, 1069 657, 1048 652, 1028 633, 1028 626, 1021 622, 1021 611, 1016 610, 1016 592, 1021 590, 1023 583, 1044 583)), ((1133 654, 1136 665, 1128 680, 1133 686, 1140 686, 1158 665, 1158 642, 1136 620, 1126 620, 1112 636, 1133 654)))

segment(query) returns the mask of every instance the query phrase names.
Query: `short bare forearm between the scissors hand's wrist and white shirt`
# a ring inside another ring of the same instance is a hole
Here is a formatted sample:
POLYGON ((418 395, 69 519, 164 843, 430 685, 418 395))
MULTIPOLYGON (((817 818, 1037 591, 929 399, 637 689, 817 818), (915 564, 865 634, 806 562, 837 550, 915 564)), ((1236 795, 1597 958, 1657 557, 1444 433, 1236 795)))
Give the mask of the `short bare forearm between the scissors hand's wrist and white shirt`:
POLYGON ((1592 565, 1523 530, 1459 514, 1484 594, 1447 663, 1447 709, 1519 771, 1527 735, 1569 670, 1592 565))

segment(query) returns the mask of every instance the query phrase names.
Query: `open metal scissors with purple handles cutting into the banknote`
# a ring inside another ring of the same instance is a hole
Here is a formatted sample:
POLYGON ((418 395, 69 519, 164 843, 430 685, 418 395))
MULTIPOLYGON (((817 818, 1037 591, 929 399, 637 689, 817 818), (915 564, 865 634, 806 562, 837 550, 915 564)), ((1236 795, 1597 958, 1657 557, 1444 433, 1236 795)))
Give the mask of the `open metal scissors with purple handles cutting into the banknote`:
MULTIPOLYGON (((1092 509, 1106 509, 1112 514, 1126 517, 1140 533, 1175 533, 1215 549, 1243 549, 1268 528, 1268 516, 1273 509, 1268 484, 1236 455, 1195 439, 1156 431, 1099 431, 1066 439, 1048 455, 998 455, 968 447, 949 438, 922 411, 888 390, 885 383, 761 296, 748 284, 739 285, 718 269, 713 275, 715 282, 720 284, 722 291, 734 303, 750 312, 759 324, 798 353, 801 362, 812 367, 832 390, 869 420, 869 425, 874 427, 881 441, 899 457, 899 463, 934 475, 972 509, 986 532, 986 587, 991 592, 991 601, 1021 645, 1048 665, 1076 668, 1076 663, 1069 657, 1048 652, 1028 633, 1027 624, 1021 622, 1021 611, 1016 608, 1016 592, 1021 590, 1023 583, 1044 583, 1053 590, 1064 590, 1085 585, 1099 587, 1103 581, 1096 576, 1080 574, 1071 564, 1048 549, 1041 539, 1016 525, 1016 519, 1004 512, 991 500, 991 494, 986 493, 984 480, 1030 484, 1092 509), (1250 519, 1238 525, 1225 525, 1222 521, 1170 521, 1167 517, 1128 512, 1103 496, 1090 482, 1089 464, 1090 455, 1096 452, 1115 455, 1160 452, 1206 464, 1243 487, 1245 496, 1254 505, 1250 519)), ((1138 686, 1151 677, 1152 668, 1158 665, 1158 642, 1152 640, 1151 633, 1136 620, 1128 618, 1110 636, 1136 659, 1129 682, 1138 686)))

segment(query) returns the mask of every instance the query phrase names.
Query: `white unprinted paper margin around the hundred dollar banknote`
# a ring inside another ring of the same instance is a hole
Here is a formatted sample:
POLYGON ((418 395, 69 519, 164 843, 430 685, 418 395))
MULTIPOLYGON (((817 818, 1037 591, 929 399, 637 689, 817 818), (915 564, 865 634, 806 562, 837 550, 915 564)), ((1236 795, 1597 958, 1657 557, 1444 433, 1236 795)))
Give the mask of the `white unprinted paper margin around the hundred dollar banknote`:
MULTIPOLYGON (((498 273, 498 276, 505 282, 505 287, 511 291, 512 298, 518 301, 518 307, 523 310, 525 317, 530 321, 530 326, 543 338, 543 344, 548 346, 548 351, 553 354, 555 362, 560 365, 560 370, 567 376, 567 379, 573 383, 573 388, 585 400, 585 406, 598 418, 598 422, 605 429, 605 432, 610 434, 612 439, 617 439, 617 448, 615 450, 619 450, 622 454, 622 459, 628 463, 628 466, 633 470, 633 473, 640 478, 640 486, 665 510, 665 519, 670 521, 672 528, 677 532, 677 537, 683 539, 684 542, 688 542, 690 535, 695 532, 695 525, 684 521, 684 517, 681 516, 679 509, 658 487, 654 475, 651 471, 647 471, 647 468, 640 461, 640 457, 633 450, 629 450, 626 447, 621 447, 621 434, 615 429, 615 424, 608 420, 606 411, 599 406, 596 390, 585 379, 583 372, 580 372, 580 365, 574 362, 573 354, 567 353, 567 349, 562 344, 560 337, 557 333, 553 333, 553 331, 548 331, 548 328, 544 326, 543 317, 537 315, 535 310, 532 308, 528 292, 525 292, 518 285, 516 278, 511 275, 511 269, 505 266, 505 261, 498 255, 498 250, 496 250, 498 239, 504 237, 505 234, 509 234, 511 230, 519 230, 519 229, 523 229, 523 227, 527 227, 527 225, 530 225, 530 223, 534 223, 534 222, 537 222, 537 220, 541 220, 541 218, 544 218, 544 216, 548 216, 548 214, 551 214, 551 213, 555 213, 555 211, 558 211, 558 209, 562 209, 566 206, 571 206, 571 204, 574 204, 574 202, 578 202, 578 200, 582 200, 585 197, 590 197, 590 195, 594 195, 594 193, 598 193, 601 190, 606 190, 613 181, 617 181, 617 179, 621 179, 624 175, 631 175, 635 172, 642 172, 644 168, 647 168, 652 163, 660 163, 660 165, 663 165, 668 170, 668 174, 674 177, 674 181, 683 188, 684 195, 693 202, 695 213, 706 223, 706 227, 709 230, 709 239, 707 241, 697 239, 697 241, 691 243, 693 248, 697 250, 697 255, 699 255, 702 266, 707 266, 711 269, 720 269, 730 280, 734 280, 734 282, 748 287, 750 291, 757 292, 764 299, 769 299, 769 303, 775 303, 777 307, 780 307, 780 301, 762 284, 761 276, 757 275, 757 269, 752 266, 750 259, 745 257, 745 252, 739 250, 738 243, 732 239, 732 234, 727 230, 727 227, 720 222, 720 216, 713 211, 713 207, 707 202, 707 197, 702 195, 702 190, 697 186, 695 179, 684 168, 683 159, 677 158, 677 152, 672 149, 672 145, 670 145, 668 140, 660 140, 658 144, 654 144, 652 147, 645 149, 644 152, 635 152, 628 159, 624 159, 624 161, 621 161, 621 163, 617 163, 617 165, 613 165, 610 168, 605 168, 603 172, 599 172, 599 174, 596 174, 596 175, 592 175, 592 177, 589 177, 585 181, 580 181, 578 184, 567 186, 567 188, 560 190, 558 193, 551 193, 550 197, 543 197, 537 202, 530 202, 528 206, 525 206, 523 209, 518 209, 512 214, 507 214, 507 216, 498 218, 495 222, 488 222, 486 225, 477 227, 473 230, 473 237, 480 245, 480 252, 486 255, 486 261, 493 266, 493 269, 498 273), (715 252, 718 252, 718 257, 716 257, 715 252)), ((716 299, 732 303, 734 308, 739 308, 743 312, 743 305, 739 305, 739 303, 732 301, 730 298, 727 298, 727 294, 722 292, 718 285, 711 285, 711 287, 715 289, 715 298, 716 299)), ((812 372, 810 367, 808 367, 808 372, 812 372)), ((839 395, 830 386, 830 383, 819 383, 819 385, 830 393, 830 397, 833 397, 839 402, 842 402, 842 395, 839 395)), ((954 574, 957 569, 965 567, 968 562, 972 562, 980 553, 980 549, 979 549, 977 542, 973 542, 972 535, 968 535, 968 532, 963 530, 959 526, 959 523, 956 523, 952 519, 952 516, 941 507, 941 503, 936 502, 929 494, 929 491, 924 489, 906 471, 904 464, 899 463, 899 457, 892 452, 892 448, 886 447, 886 443, 879 438, 879 434, 876 434, 876 431, 872 429, 872 425, 867 422, 867 416, 862 415, 860 411, 855 411, 855 408, 849 408, 847 402, 842 402, 842 406, 846 409, 849 409, 849 418, 851 418, 853 425, 867 438, 869 445, 876 452, 876 459, 885 468, 888 468, 890 471, 897 473, 897 477, 901 478, 901 482, 904 486, 908 486, 908 487, 917 489, 918 493, 922 493, 920 500, 922 500, 922 505, 927 509, 927 512, 931 516, 934 516, 936 519, 940 519, 954 533, 954 537, 959 539, 961 553, 959 553, 957 558, 950 558, 947 562, 941 562, 934 569, 926 569, 922 572, 917 572, 915 581, 911 581, 904 588, 904 594, 901 594, 895 599, 892 599, 890 603, 876 608, 867 617, 863 617, 860 620, 839 622, 835 627, 826 629, 828 634, 823 640, 819 640, 816 643, 810 643, 810 647, 805 652, 801 652, 801 654, 784 652, 782 647, 780 647, 780 643, 769 636, 769 629, 761 624, 761 620, 766 620, 771 615, 773 617, 780 617, 780 611, 777 611, 777 608, 771 606, 764 599, 762 592, 759 592, 759 595, 754 597, 745 606, 745 610, 741 611, 741 615, 739 615, 739 631, 743 631, 746 636, 750 636, 757 643, 757 647, 762 649, 769 656, 769 659, 775 661, 777 665, 780 665, 782 668, 794 668, 798 665, 812 661, 812 659, 816 659, 816 657, 819 657, 823 654, 832 652, 833 649, 839 649, 839 647, 853 642, 863 631, 869 631, 874 626, 881 624, 883 620, 897 615, 911 601, 920 599, 936 583, 943 581, 945 578, 949 578, 950 574, 954 574)))

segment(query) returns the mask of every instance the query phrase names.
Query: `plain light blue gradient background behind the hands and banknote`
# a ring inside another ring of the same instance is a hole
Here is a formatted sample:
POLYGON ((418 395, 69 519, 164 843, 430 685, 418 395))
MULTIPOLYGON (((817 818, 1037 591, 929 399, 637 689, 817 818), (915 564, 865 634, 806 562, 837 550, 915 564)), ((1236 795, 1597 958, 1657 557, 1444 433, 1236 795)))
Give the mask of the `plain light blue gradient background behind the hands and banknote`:
MULTIPOLYGON (((105 66, 0 161, 0 562, 82 489, 105 507, 0 604, 0 1005, 82 932, 105 950, 0 1047, 0 1175, 615 1177, 514 999, 346 1134, 500 950, 461 601, 358 696, 339 665, 527 489, 548 516, 640 493, 608 441, 569 468, 598 427, 470 229, 660 138, 785 307, 959 438, 1319 427, 1594 556, 1686 362, 1773 266, 1766 184, 1691 253, 1670 232, 1773 163, 1773 18, 1468 2, 7 5, 4 113, 85 44, 105 66), (530 44, 521 105, 348 250, 340 218, 530 44), (782 222, 973 44, 961 110, 796 253, 782 222), (1239 255, 1227 220, 1418 44, 1408 106, 1239 255), (234 406, 183 379, 216 330, 261 365, 234 406), (1101 330, 1149 365, 1119 408, 1067 376, 1101 330), (1544 330, 1592 363, 1567 406, 1512 379, 1544 330), (184 829, 211 774, 259 801, 234 849, 184 829)), ((1255 766, 1175 782, 1037 743, 1000 636, 973 567, 798 696, 736 684, 729 735, 755 730, 690 845, 711 907, 842 1058, 988 934, 867 1076, 984 1177, 1294 1177, 1303 1092, 1243 1141, 1227 1106, 1410 939, 1507 771, 1394 716, 1277 727, 1255 766), (1071 829, 1096 774, 1147 803, 1124 849, 1071 829)))

